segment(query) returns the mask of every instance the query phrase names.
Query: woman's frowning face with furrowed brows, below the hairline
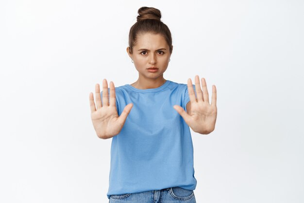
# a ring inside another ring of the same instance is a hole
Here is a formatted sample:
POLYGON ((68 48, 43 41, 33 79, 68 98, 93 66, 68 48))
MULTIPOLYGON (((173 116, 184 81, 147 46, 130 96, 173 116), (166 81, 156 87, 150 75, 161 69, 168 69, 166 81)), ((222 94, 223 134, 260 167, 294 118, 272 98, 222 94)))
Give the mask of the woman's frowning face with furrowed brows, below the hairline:
POLYGON ((132 55, 129 53, 129 47, 127 52, 133 59, 139 77, 163 78, 163 73, 169 64, 170 51, 169 45, 162 35, 152 33, 138 35, 132 55), (148 70, 150 67, 158 69, 152 72, 148 70))

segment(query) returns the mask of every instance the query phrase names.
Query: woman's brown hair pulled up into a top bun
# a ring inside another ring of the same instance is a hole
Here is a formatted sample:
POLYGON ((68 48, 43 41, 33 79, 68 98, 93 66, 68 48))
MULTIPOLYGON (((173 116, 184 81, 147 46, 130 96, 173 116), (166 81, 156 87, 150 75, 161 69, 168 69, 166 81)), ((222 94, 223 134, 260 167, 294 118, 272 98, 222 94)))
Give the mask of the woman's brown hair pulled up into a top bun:
POLYGON ((163 23, 160 10, 153 7, 141 7, 138 9, 137 22, 130 28, 129 32, 129 47, 130 54, 133 53, 137 36, 147 32, 161 34, 169 45, 170 54, 172 53, 172 37, 168 26, 163 23))

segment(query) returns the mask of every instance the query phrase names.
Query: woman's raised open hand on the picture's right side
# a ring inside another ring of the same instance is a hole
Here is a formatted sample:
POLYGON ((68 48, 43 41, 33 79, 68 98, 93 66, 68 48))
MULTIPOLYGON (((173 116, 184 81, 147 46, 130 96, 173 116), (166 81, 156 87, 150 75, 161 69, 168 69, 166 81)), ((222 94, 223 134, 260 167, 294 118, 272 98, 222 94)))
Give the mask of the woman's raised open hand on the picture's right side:
POLYGON ((173 108, 184 118, 186 124, 194 131, 200 134, 209 134, 215 128, 217 119, 217 90, 215 85, 212 86, 212 101, 209 104, 209 94, 206 86, 206 81, 202 78, 203 92, 201 89, 200 78, 195 76, 195 92, 192 86, 192 81, 188 79, 188 94, 190 102, 187 104, 187 112, 178 105, 173 108), (189 107, 188 107, 189 105, 189 107))

